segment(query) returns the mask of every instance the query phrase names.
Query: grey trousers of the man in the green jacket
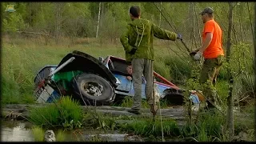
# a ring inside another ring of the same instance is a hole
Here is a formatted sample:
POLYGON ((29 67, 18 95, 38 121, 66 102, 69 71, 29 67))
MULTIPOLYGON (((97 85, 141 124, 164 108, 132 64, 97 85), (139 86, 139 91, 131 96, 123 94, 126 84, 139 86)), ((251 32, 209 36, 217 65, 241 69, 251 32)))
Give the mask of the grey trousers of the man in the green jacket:
POLYGON ((146 79, 145 94, 149 104, 153 97, 153 61, 150 59, 134 58, 131 62, 133 68, 134 103, 132 109, 139 110, 142 103, 142 74, 146 79))

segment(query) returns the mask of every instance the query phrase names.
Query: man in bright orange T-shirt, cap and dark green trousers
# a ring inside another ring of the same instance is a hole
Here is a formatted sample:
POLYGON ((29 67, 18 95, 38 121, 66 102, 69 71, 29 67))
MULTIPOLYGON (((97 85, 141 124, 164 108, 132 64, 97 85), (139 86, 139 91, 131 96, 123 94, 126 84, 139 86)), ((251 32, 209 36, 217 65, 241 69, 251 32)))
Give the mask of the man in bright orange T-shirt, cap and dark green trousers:
POLYGON ((216 108, 216 90, 214 88, 217 75, 224 61, 222 49, 222 29, 214 21, 214 10, 210 7, 202 10, 202 22, 205 24, 202 32, 202 46, 194 50, 194 59, 200 60, 203 56, 201 75, 199 82, 203 86, 203 94, 206 97, 208 108, 216 108))

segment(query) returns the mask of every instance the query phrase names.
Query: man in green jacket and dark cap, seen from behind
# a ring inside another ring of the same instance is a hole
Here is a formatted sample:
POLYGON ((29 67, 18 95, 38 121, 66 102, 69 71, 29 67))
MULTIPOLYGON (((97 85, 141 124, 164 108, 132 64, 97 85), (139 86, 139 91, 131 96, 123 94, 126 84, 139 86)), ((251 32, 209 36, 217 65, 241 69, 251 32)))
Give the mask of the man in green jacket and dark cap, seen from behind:
POLYGON ((131 22, 122 34, 120 41, 126 51, 126 62, 131 63, 133 69, 134 104, 130 113, 140 114, 142 102, 142 74, 146 78, 146 100, 152 105, 153 96, 153 36, 159 39, 175 41, 182 39, 180 34, 163 30, 153 22, 140 18, 141 11, 138 6, 130 7, 131 22))

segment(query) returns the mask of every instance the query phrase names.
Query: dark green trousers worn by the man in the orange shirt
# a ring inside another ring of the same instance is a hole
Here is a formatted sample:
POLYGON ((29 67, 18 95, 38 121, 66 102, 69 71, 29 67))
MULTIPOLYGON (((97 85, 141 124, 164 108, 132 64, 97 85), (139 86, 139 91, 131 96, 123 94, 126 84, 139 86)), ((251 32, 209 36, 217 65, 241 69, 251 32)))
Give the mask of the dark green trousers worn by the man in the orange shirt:
POLYGON ((208 106, 216 105, 217 91, 215 84, 219 70, 224 62, 224 56, 220 55, 218 58, 206 58, 202 65, 199 82, 203 86, 202 93, 207 98, 208 106))

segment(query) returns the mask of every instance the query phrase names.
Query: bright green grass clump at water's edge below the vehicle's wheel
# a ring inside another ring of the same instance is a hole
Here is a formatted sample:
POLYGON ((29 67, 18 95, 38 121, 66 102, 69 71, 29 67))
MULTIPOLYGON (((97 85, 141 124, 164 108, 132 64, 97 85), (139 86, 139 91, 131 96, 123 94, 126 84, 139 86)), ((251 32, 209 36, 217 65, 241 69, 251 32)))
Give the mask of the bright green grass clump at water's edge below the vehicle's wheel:
POLYGON ((82 126, 83 111, 78 102, 65 96, 50 106, 34 108, 30 111, 30 122, 37 126, 64 127, 75 129, 82 126))

